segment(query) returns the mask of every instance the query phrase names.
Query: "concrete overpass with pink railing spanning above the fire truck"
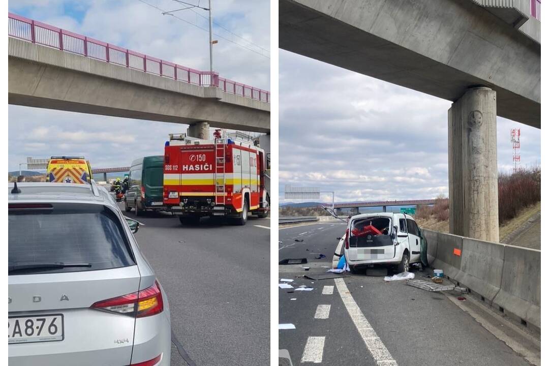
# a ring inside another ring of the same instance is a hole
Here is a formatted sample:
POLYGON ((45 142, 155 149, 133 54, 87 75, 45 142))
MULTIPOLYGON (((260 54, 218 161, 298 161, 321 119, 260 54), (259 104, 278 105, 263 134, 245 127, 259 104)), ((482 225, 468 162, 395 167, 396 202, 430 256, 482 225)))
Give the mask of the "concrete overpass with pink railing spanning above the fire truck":
POLYGON ((270 93, 8 14, 8 103, 270 131, 270 93))

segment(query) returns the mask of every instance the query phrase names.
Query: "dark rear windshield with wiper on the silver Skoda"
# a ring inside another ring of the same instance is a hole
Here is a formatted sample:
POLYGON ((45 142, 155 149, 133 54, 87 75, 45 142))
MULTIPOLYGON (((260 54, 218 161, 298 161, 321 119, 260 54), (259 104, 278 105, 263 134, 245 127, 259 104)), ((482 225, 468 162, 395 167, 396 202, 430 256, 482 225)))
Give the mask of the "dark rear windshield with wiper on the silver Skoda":
POLYGON ((51 207, 8 210, 8 267, 34 267, 10 269, 10 274, 94 271, 135 264, 113 211, 93 204, 51 207), (37 268, 48 263, 80 266, 37 268))

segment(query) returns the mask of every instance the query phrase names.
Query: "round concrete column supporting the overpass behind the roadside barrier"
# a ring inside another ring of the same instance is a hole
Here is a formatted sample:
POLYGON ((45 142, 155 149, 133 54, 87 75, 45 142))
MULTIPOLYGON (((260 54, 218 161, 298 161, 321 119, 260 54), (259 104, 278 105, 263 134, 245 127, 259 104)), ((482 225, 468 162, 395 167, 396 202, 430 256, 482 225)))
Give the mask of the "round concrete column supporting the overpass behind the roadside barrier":
POLYGON ((496 92, 470 88, 448 110, 450 233, 499 242, 496 92))

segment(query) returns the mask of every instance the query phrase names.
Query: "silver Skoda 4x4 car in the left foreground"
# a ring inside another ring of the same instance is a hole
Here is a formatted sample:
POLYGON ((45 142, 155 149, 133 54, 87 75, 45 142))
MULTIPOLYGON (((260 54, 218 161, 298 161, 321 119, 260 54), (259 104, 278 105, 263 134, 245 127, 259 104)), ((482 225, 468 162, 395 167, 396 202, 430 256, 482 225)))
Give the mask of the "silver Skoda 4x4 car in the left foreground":
POLYGON ((95 183, 9 184, 10 366, 170 364, 170 310, 138 227, 95 183))

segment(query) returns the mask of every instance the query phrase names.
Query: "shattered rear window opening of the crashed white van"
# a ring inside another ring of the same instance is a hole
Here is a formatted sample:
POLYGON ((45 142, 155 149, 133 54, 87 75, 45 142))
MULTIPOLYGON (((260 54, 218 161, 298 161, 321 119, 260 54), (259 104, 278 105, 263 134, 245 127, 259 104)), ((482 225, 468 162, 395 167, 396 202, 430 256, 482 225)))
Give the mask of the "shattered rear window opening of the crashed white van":
POLYGON ((390 237, 391 219, 389 217, 367 217, 356 219, 351 224, 350 247, 393 245, 390 237))

